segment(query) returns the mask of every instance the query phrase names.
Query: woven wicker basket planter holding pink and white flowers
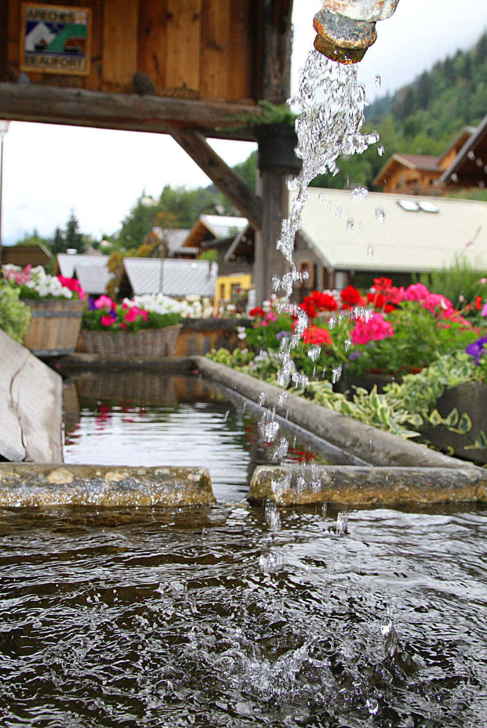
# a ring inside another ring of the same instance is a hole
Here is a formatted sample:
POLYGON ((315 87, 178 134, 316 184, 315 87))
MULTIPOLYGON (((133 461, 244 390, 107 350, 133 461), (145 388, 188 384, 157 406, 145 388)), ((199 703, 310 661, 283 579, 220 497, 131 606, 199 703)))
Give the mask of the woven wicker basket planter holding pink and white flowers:
POLYGON ((165 328, 125 331, 83 331, 82 345, 88 354, 119 359, 154 360, 174 355, 181 324, 165 328))

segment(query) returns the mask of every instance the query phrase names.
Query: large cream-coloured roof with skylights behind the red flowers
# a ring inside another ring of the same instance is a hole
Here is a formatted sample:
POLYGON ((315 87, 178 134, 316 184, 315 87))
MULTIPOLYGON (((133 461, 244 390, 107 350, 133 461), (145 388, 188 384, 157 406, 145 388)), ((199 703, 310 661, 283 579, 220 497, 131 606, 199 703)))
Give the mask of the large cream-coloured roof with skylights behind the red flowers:
POLYGON ((301 232, 336 270, 426 272, 451 265, 460 253, 487 269, 487 202, 382 192, 355 202, 349 190, 314 187, 301 232), (397 204, 401 199, 432 203, 438 212, 407 212, 397 204), (376 210, 384 211, 384 223, 376 210))

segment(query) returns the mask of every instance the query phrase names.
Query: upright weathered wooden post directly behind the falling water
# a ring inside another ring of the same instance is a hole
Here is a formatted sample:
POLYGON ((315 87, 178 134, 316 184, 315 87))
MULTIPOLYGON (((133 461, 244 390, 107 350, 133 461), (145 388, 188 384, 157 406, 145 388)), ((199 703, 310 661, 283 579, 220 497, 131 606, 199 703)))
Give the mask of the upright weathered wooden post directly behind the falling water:
MULTIPOLYGON (((293 0, 264 0, 263 62, 261 98, 272 103, 285 103, 290 95, 291 12, 293 0)), ((269 299, 272 277, 281 277, 289 266, 276 243, 282 219, 288 215, 286 175, 277 172, 258 173, 257 194, 262 202, 262 227, 256 231, 254 280, 257 304, 269 299)))

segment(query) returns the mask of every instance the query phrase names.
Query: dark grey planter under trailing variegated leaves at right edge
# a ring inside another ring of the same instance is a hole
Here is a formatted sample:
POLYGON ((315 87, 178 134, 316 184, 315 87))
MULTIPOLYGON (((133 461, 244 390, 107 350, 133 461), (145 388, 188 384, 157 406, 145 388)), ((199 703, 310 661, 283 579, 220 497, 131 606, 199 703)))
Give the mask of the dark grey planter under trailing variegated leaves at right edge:
POLYGON ((421 434, 443 451, 453 448, 456 457, 479 465, 486 464, 487 449, 467 450, 465 448, 473 445, 480 430, 487 435, 487 384, 469 382, 461 384, 459 387, 446 389, 437 400, 437 411, 442 417, 446 417, 455 407, 460 416, 466 412, 472 420, 470 432, 467 432, 466 435, 458 435, 456 432, 448 430, 448 427, 440 425, 439 427, 428 427, 426 430, 422 430, 421 434))

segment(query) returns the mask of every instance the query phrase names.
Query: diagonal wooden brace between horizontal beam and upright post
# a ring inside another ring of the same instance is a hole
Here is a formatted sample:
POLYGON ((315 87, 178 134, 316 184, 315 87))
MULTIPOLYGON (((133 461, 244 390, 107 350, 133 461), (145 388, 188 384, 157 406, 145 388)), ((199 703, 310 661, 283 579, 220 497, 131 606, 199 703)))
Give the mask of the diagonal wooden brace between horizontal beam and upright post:
POLYGON ((261 202, 250 187, 210 147, 199 132, 175 129, 171 135, 186 154, 197 163, 210 180, 229 198, 237 210, 257 229, 261 228, 261 202))

